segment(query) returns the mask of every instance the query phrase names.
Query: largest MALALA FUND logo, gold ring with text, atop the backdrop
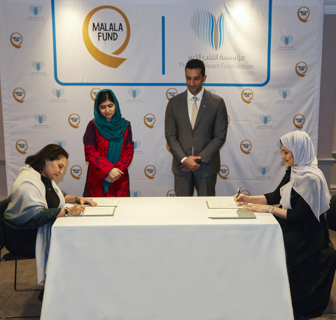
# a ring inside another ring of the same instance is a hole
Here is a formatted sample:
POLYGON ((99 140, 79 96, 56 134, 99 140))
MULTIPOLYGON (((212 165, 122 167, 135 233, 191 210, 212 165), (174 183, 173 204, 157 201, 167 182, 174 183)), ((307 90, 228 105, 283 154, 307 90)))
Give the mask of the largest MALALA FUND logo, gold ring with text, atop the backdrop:
POLYGON ((127 48, 130 34, 130 22, 125 13, 113 6, 94 8, 83 23, 87 51, 106 67, 118 68, 125 62, 126 58, 116 56, 127 48))

